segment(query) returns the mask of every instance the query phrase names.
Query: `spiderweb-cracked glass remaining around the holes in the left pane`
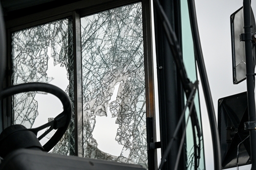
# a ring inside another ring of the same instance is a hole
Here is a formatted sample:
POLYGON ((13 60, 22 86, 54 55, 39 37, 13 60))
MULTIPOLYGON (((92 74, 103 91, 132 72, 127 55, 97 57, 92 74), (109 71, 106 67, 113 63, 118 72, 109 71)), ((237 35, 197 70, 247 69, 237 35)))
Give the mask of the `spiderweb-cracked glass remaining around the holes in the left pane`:
MULTIPOLYGON (((70 19, 57 20, 14 32, 12 34, 12 84, 51 82, 53 78, 47 75, 48 61, 51 57, 54 66, 60 64, 67 69, 70 83, 66 92, 74 107, 72 39, 72 21, 70 19)), ((35 100, 37 93, 41 92, 19 93, 13 96, 13 124, 22 124, 27 128, 33 126, 38 115, 38 103, 35 100)), ((69 130, 51 152, 63 155, 74 154, 73 129, 74 119, 72 119, 69 130)))

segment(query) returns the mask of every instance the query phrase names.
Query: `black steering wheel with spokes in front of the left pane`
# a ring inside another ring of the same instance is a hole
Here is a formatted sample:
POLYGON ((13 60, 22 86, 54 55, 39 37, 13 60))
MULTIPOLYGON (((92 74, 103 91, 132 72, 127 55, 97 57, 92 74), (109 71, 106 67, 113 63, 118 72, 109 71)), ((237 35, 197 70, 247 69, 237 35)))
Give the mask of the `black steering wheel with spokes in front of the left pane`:
POLYGON ((48 142, 44 146, 42 146, 45 151, 49 152, 55 146, 55 144, 57 144, 57 142, 61 139, 61 137, 64 135, 64 133, 68 129, 68 126, 71 120, 71 115, 72 115, 71 102, 69 100, 68 95, 63 90, 61 90, 60 88, 54 85, 47 84, 47 83, 26 83, 26 84, 19 84, 19 85, 8 87, 0 92, 0 100, 20 92, 29 92, 29 91, 43 91, 43 92, 51 93, 57 96, 57 98, 61 101, 61 104, 63 106, 63 112, 57 115, 54 118, 54 120, 52 120, 51 122, 45 125, 42 125, 38 128, 26 129, 26 131, 31 131, 35 135, 37 135, 38 131, 45 129, 47 127, 50 127, 45 133, 43 133, 41 136, 37 138, 38 140, 45 137, 53 129, 55 130, 57 129, 57 131, 51 137, 51 139, 48 140, 48 142))

